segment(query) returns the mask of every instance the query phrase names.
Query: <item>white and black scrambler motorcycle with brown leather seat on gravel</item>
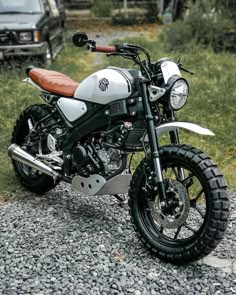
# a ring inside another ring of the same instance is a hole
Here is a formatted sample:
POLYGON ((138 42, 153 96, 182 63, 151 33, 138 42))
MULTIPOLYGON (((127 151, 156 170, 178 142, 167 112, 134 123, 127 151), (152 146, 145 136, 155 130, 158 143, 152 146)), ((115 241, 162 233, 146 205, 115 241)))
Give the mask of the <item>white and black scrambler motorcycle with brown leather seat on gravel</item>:
POLYGON ((139 69, 109 66, 78 83, 28 67, 24 81, 46 103, 29 106, 15 123, 8 154, 16 177, 37 194, 60 181, 89 196, 128 193, 134 229, 158 258, 181 264, 209 254, 223 238, 229 201, 216 164, 180 143, 179 129, 214 135, 176 119, 188 98, 186 70, 168 58, 152 62, 134 44, 101 46, 83 32, 73 43, 132 60, 139 69), (164 134, 170 143, 161 146, 164 134), (144 157, 132 175, 137 152, 144 157))

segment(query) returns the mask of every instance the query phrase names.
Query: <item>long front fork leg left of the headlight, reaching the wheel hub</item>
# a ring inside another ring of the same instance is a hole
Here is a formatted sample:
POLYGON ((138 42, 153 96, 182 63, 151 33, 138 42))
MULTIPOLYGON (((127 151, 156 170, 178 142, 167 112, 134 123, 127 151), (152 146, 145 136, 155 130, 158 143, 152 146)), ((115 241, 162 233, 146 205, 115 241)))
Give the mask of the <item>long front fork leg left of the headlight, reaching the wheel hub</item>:
POLYGON ((143 98, 143 108, 145 114, 145 120, 147 123, 147 133, 149 138, 150 150, 151 150, 151 157, 154 163, 154 169, 156 173, 156 184, 159 191, 160 201, 165 202, 167 204, 167 197, 165 186, 163 182, 161 164, 160 164, 160 157, 159 157, 159 145, 158 139, 156 135, 155 125, 154 125, 154 117, 152 115, 152 111, 150 108, 148 96, 147 96, 147 85, 146 81, 141 81, 141 92, 143 98))

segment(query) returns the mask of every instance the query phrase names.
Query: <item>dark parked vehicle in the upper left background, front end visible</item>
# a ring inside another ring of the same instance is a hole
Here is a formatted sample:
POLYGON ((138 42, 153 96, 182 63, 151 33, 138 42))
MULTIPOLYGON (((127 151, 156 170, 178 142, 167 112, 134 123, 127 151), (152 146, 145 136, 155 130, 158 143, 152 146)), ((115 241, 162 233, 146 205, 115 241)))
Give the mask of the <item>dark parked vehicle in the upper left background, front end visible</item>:
POLYGON ((0 60, 38 57, 49 63, 63 46, 62 0, 0 0, 0 60))

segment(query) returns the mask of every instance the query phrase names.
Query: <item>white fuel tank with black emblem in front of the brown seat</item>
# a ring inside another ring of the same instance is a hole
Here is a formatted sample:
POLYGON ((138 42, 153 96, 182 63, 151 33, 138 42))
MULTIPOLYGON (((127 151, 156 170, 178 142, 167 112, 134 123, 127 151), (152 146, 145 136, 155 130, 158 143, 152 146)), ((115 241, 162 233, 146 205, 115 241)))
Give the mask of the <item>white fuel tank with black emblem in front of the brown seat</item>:
POLYGON ((116 69, 103 69, 87 77, 74 93, 75 98, 108 104, 131 95, 131 82, 116 69))

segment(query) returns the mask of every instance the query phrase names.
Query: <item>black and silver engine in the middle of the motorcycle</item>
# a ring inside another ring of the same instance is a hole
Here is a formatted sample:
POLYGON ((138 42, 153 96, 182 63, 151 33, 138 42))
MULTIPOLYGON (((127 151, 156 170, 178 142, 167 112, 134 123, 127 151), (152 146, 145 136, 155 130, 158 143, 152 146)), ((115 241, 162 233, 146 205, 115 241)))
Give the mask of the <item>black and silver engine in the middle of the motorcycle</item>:
POLYGON ((127 168, 127 152, 143 150, 143 122, 124 122, 84 139, 72 150, 72 169, 83 177, 100 174, 106 179, 127 168))

